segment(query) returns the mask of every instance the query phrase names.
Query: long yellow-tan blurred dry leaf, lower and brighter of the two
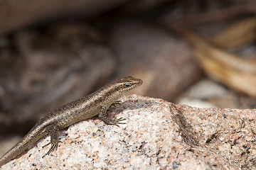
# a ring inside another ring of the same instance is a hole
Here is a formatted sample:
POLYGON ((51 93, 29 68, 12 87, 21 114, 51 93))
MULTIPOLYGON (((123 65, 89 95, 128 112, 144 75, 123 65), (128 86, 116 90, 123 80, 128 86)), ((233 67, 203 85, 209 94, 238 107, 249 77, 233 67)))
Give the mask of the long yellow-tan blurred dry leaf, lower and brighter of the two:
POLYGON ((187 33, 190 34, 193 52, 206 74, 232 89, 256 96, 256 62, 236 57, 191 32, 187 33))

